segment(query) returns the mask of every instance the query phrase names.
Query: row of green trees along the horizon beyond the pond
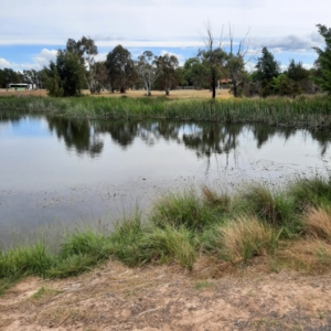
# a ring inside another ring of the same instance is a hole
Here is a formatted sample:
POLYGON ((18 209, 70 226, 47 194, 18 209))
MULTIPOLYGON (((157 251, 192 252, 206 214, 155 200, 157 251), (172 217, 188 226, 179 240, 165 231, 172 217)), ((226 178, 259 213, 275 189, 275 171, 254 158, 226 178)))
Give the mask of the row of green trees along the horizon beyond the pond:
POLYGON ((281 72, 274 54, 263 47, 261 55, 255 58, 254 71, 248 72, 246 64, 252 58, 248 57, 246 38, 235 46, 229 29, 229 47, 225 50, 222 40, 215 44, 211 25, 206 24, 205 49, 199 50, 196 56, 188 58, 183 66, 174 55, 157 56, 151 51, 145 51, 135 61, 122 45, 114 47, 106 61, 96 61, 98 50, 94 40, 83 36, 78 41, 68 39, 66 47, 57 51, 56 60, 42 71, 0 70, 0 86, 30 83, 35 88, 45 87, 51 96, 79 96, 83 88, 88 88, 92 94, 102 89, 126 93, 128 88, 143 88, 147 95, 151 95, 152 89, 169 95, 178 86, 190 86, 210 88, 215 97, 216 88, 223 84, 235 97, 296 97, 319 90, 331 94, 331 29, 321 24, 317 26, 325 47, 314 49, 318 58, 311 70, 290 60, 287 70, 281 72))

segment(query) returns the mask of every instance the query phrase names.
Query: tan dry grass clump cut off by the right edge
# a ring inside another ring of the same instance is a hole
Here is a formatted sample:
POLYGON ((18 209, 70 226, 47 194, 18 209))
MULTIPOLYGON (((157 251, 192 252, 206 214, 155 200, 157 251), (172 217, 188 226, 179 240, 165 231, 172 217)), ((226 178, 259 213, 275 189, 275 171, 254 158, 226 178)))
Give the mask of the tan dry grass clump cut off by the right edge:
POLYGON ((331 210, 311 207, 305 215, 303 226, 307 234, 331 244, 331 210))

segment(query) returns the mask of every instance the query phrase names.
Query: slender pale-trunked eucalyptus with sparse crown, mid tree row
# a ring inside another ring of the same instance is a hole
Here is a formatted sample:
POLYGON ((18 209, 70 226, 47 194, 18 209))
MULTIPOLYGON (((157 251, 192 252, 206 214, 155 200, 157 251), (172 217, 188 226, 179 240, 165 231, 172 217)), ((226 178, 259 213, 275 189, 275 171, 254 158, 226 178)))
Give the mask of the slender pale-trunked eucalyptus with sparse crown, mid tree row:
POLYGON ((157 66, 157 56, 150 51, 145 51, 142 55, 138 56, 136 71, 143 83, 146 94, 150 96, 152 86, 160 74, 157 66))

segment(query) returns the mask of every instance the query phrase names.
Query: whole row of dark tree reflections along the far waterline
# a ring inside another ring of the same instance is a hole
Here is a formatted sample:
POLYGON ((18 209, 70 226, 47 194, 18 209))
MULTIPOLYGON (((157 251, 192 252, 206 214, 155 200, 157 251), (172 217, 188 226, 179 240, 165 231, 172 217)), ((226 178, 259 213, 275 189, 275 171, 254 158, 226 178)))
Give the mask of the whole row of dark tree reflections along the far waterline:
MULTIPOLYGON (((13 111, 0 111, 0 124, 20 124, 24 118, 41 118, 38 115, 22 115, 13 111)), ((296 128, 275 127, 259 124, 217 124, 217 122, 183 122, 162 119, 145 120, 88 120, 68 119, 64 117, 46 116, 51 132, 63 139, 68 149, 75 149, 77 154, 88 154, 94 158, 104 149, 102 135, 109 134, 111 140, 122 147, 129 148, 136 138, 148 146, 153 146, 160 139, 175 141, 194 150, 196 157, 210 158, 212 154, 228 154, 239 146, 238 137, 243 131, 250 131, 256 146, 260 149, 275 136, 286 142, 295 137, 296 128)), ((306 129, 306 135, 318 141, 320 156, 324 156, 331 135, 328 130, 306 129)))

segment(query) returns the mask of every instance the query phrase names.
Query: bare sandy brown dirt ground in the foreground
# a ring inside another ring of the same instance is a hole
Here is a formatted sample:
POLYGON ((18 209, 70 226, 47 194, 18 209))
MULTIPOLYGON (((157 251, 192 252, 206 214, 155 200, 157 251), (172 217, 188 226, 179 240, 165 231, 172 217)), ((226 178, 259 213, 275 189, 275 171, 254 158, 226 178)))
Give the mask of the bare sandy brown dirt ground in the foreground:
POLYGON ((331 330, 331 273, 263 264, 235 271, 200 260, 189 273, 109 261, 74 278, 29 278, 0 297, 0 330, 331 330))

